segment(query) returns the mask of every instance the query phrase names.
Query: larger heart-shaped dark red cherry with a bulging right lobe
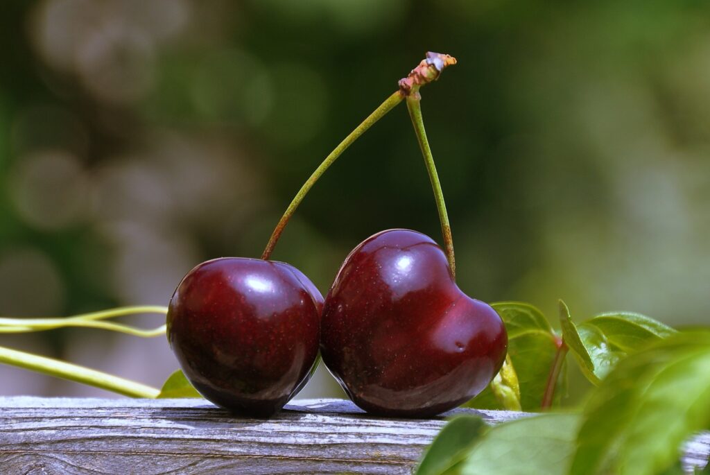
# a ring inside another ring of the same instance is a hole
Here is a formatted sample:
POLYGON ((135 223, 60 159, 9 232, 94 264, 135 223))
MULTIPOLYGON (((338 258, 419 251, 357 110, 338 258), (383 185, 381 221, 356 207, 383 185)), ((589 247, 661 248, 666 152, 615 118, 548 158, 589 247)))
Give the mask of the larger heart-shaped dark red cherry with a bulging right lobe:
POLYGON ((321 355, 360 408, 428 417, 480 393, 506 358, 490 305, 459 290, 430 237, 391 229, 346 258, 321 320, 321 355))

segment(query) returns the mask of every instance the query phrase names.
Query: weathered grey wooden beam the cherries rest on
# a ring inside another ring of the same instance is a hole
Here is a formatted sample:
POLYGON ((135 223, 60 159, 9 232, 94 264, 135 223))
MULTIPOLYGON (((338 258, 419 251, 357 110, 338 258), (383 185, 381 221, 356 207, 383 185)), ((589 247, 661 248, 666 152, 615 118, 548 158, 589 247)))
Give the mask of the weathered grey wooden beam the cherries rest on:
MULTIPOLYGON (((270 420, 204 400, 0 398, 5 474, 410 474, 454 413, 488 422, 523 413, 459 409, 427 420, 371 417, 349 401, 294 401, 270 420)), ((687 444, 702 466, 710 436, 687 444)))

